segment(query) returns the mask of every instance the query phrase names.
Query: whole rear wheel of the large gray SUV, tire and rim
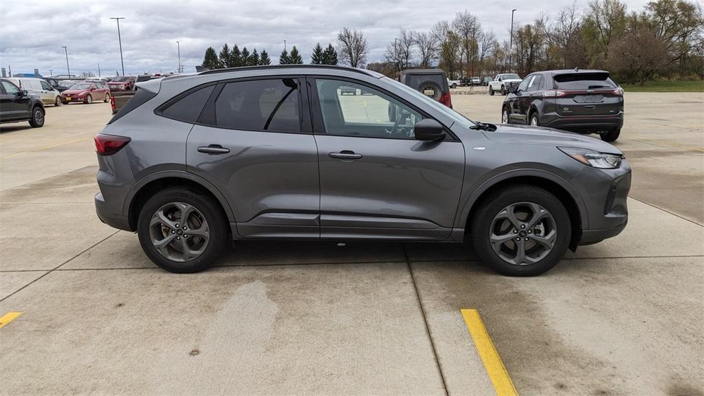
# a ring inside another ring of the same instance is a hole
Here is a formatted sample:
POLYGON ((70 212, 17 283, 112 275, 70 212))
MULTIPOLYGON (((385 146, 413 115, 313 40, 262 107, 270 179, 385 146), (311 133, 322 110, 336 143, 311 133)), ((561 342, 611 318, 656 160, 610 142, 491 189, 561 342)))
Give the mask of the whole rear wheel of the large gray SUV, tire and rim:
POLYGON ((154 194, 139 212, 139 244, 166 271, 192 273, 213 264, 227 246, 218 202, 185 187, 154 194))

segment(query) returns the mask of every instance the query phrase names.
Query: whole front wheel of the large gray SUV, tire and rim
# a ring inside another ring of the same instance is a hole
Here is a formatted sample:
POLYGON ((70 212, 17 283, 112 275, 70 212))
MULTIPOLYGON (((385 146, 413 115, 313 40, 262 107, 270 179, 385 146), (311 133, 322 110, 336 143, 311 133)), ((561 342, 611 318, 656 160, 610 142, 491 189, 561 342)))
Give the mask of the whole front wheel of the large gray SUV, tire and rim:
POLYGON ((477 255, 507 276, 534 276, 553 268, 571 237, 565 206, 532 185, 498 190, 484 199, 472 218, 477 255))

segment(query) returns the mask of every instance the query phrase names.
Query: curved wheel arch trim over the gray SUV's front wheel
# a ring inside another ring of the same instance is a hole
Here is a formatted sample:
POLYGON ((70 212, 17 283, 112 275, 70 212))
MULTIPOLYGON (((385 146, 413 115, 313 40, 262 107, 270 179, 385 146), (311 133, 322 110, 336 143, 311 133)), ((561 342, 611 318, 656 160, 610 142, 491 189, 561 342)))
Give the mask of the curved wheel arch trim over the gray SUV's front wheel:
POLYGON ((579 195, 577 190, 575 190, 574 187, 570 185, 570 182, 567 181, 565 178, 562 178, 560 175, 556 175, 555 173, 543 171, 541 169, 514 169, 499 173, 498 175, 494 175, 491 178, 484 180, 484 182, 482 182, 479 187, 477 187, 476 189, 474 189, 474 191, 471 192, 469 197, 464 199, 463 202, 460 202, 461 209, 457 216, 455 216, 455 228, 465 227, 467 221, 469 220, 469 216, 472 213, 472 209, 474 208, 474 204, 477 204, 477 202, 479 201, 479 197, 482 197, 482 194, 484 194, 484 192, 505 180, 526 176, 534 178, 543 178, 551 182, 555 182, 555 184, 562 187, 568 194, 570 194, 574 202, 577 204, 577 208, 579 209, 579 217, 582 221, 582 228, 589 228, 589 216, 588 212, 586 211, 586 204, 584 204, 582 196, 579 195))

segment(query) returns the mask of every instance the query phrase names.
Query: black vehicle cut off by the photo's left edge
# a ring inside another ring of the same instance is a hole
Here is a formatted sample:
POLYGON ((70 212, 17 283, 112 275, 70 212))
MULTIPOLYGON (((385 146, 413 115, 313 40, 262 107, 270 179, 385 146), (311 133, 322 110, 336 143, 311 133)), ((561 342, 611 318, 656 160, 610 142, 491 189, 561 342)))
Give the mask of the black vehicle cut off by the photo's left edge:
POLYGON ((29 121, 32 128, 44 126, 42 98, 0 78, 0 123, 20 121, 29 121))

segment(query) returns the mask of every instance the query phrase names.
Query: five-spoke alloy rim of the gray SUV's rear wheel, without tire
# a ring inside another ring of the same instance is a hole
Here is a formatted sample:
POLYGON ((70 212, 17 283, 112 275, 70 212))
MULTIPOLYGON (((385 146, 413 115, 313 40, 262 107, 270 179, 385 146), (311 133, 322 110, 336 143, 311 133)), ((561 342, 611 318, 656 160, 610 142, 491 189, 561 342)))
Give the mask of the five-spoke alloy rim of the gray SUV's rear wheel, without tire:
POLYGON ((172 261, 191 261, 208 247, 208 222, 195 206, 171 202, 161 206, 149 222, 149 237, 157 252, 172 261))

